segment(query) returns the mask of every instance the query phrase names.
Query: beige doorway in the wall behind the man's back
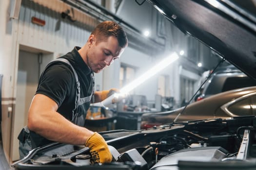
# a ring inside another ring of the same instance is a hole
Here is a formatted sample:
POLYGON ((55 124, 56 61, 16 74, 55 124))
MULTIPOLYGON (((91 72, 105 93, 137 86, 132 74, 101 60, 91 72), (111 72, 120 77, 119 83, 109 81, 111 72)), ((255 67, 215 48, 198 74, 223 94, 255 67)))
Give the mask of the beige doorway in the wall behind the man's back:
POLYGON ((44 67, 53 59, 53 53, 20 46, 17 74, 16 104, 12 124, 11 161, 19 160, 20 130, 27 125, 28 110, 35 95, 44 67))

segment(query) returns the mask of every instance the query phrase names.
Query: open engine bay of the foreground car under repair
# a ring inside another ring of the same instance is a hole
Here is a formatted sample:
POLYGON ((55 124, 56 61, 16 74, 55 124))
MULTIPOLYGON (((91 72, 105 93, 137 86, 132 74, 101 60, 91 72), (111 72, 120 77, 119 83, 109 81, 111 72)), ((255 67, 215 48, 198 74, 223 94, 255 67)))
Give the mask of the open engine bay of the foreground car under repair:
POLYGON ((113 155, 92 164, 89 148, 53 143, 32 150, 16 170, 193 170, 256 167, 255 117, 177 122, 148 130, 101 132, 113 155), (242 164, 241 164, 242 163, 242 164))

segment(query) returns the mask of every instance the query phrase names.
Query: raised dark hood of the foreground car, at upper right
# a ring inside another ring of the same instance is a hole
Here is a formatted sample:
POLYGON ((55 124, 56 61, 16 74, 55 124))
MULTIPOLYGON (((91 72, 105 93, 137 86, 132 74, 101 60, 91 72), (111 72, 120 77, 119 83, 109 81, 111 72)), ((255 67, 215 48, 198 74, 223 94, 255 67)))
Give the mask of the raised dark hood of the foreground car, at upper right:
POLYGON ((256 0, 148 1, 183 33, 256 79, 256 0))

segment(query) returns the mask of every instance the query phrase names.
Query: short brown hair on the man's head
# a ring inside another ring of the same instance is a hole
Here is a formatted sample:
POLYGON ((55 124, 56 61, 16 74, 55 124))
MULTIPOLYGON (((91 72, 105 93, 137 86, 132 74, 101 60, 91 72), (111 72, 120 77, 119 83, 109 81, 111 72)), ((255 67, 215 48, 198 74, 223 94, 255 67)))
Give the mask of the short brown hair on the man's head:
POLYGON ((114 21, 99 23, 91 34, 95 35, 96 42, 106 40, 109 36, 115 36, 118 39, 119 47, 124 48, 128 44, 124 29, 114 21))

